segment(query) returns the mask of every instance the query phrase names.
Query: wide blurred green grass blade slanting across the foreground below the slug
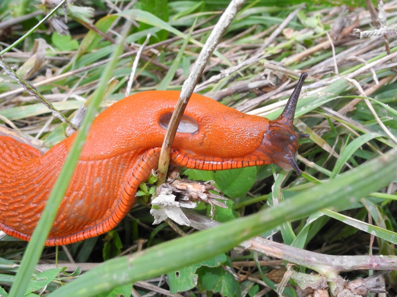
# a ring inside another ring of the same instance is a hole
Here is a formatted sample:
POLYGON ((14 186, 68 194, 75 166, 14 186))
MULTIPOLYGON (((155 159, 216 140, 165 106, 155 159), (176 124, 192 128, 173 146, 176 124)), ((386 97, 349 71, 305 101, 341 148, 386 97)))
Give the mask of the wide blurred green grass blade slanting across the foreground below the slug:
POLYGON ((48 296, 95 296, 128 282, 147 280, 197 263, 285 221, 308 216, 322 208, 343 209, 395 179, 396 167, 397 148, 272 208, 132 256, 109 260, 48 296))

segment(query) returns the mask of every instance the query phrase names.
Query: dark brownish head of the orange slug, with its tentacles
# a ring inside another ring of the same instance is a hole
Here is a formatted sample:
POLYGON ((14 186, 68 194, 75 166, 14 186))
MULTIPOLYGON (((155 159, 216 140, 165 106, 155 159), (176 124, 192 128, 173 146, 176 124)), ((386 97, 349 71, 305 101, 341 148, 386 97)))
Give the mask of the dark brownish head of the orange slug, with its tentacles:
POLYGON ((269 127, 264 138, 264 145, 270 145, 272 147, 273 163, 287 171, 293 169, 297 175, 302 174, 295 161, 298 141, 300 138, 308 138, 309 134, 295 132, 293 121, 296 104, 306 77, 307 73, 301 74, 298 85, 288 99, 283 112, 276 120, 269 122, 269 127))

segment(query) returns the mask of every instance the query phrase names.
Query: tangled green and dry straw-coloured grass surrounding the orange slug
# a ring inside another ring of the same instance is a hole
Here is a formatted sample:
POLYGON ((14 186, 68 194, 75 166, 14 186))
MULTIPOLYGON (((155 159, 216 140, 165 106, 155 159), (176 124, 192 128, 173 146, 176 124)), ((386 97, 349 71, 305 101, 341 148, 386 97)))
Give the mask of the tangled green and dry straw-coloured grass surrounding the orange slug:
MULTIPOLYGON (((72 133, 67 121, 89 125, 96 106, 126 93, 181 90, 229 3, 66 2, 42 21, 58 4, 0 6, 0 134, 43 150, 72 133), (80 106, 88 107, 83 122, 80 106)), ((299 148, 303 175, 273 165, 186 170, 229 198, 215 221, 200 203, 188 214, 195 228, 152 225, 142 198, 112 232, 59 249, 41 250, 44 232, 29 247, 5 237, 0 294, 395 296, 396 5, 246 2, 195 92, 274 119, 307 72, 294 121, 310 134, 299 148), (270 240, 253 238, 260 235, 270 240)), ((43 221, 43 230, 51 224, 43 221)))

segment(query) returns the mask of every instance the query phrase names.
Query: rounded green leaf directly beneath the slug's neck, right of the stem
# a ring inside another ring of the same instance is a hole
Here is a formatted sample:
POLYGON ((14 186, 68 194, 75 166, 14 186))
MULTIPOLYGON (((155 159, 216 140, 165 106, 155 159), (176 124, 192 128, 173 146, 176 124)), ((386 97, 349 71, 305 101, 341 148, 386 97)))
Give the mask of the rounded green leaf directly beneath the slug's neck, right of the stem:
POLYGON ((223 194, 231 198, 244 196, 255 183, 257 167, 245 167, 215 172, 215 182, 223 194))

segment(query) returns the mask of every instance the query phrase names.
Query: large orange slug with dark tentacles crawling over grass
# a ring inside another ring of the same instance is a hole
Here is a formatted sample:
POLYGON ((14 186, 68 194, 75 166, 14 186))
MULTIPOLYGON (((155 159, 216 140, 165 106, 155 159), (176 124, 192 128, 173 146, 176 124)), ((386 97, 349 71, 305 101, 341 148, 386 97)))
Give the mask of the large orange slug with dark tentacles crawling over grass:
MULTIPOLYGON (((292 122, 303 73, 276 120, 247 115, 193 94, 172 145, 171 164, 222 170, 275 163, 301 171, 292 122)), ((142 92, 100 113, 88 133, 47 246, 67 245, 112 230, 130 211, 136 189, 157 169, 177 91, 142 92)), ((29 240, 76 134, 41 154, 0 137, 0 229, 29 240)))

